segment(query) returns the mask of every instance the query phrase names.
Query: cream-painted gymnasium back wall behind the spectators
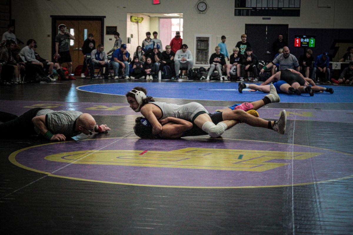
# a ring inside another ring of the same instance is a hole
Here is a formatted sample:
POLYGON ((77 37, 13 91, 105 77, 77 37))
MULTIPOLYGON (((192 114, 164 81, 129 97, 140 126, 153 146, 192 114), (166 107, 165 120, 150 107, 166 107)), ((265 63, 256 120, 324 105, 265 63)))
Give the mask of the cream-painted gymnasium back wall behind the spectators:
MULTIPOLYGON (((161 4, 158 5, 153 5, 152 0, 12 0, 12 18, 16 20, 16 36, 23 42, 35 38, 40 45, 38 53, 46 58, 51 56, 52 47, 50 15, 106 16, 105 26, 118 26, 120 37, 126 43, 126 37, 137 30, 127 29, 129 13, 183 13, 183 42, 188 44, 191 51, 194 47, 194 34, 211 34, 212 47, 219 43, 219 36, 226 35, 227 48, 231 51, 240 41, 245 24, 288 24, 290 33, 292 29, 294 33, 299 32, 297 29, 325 31, 353 28, 351 0, 301 0, 300 17, 271 17, 270 20, 263 20, 262 17, 235 17, 234 0, 206 1, 209 5, 207 13, 199 14, 195 9, 197 0, 160 0, 161 4)), ((156 30, 156 26, 150 29, 146 18, 139 24, 140 41, 145 31, 156 30)), ((331 36, 336 37, 335 34, 331 36)), ((104 35, 106 48, 110 48, 114 42, 114 38, 112 41, 109 38, 113 36, 104 35)))

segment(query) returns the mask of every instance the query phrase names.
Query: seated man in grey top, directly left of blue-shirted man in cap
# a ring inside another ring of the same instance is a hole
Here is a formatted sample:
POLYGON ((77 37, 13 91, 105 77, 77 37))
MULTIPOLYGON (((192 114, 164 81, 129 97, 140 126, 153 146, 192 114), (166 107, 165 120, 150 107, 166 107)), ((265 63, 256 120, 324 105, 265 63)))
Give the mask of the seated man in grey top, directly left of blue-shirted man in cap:
POLYGON ((94 79, 94 70, 96 68, 105 68, 104 71, 104 78, 108 79, 108 75, 109 75, 109 63, 108 63, 108 56, 106 54, 106 52, 104 51, 104 45, 103 44, 99 44, 97 46, 97 49, 94 49, 91 51, 91 62, 90 62, 90 76, 91 79, 94 79))

